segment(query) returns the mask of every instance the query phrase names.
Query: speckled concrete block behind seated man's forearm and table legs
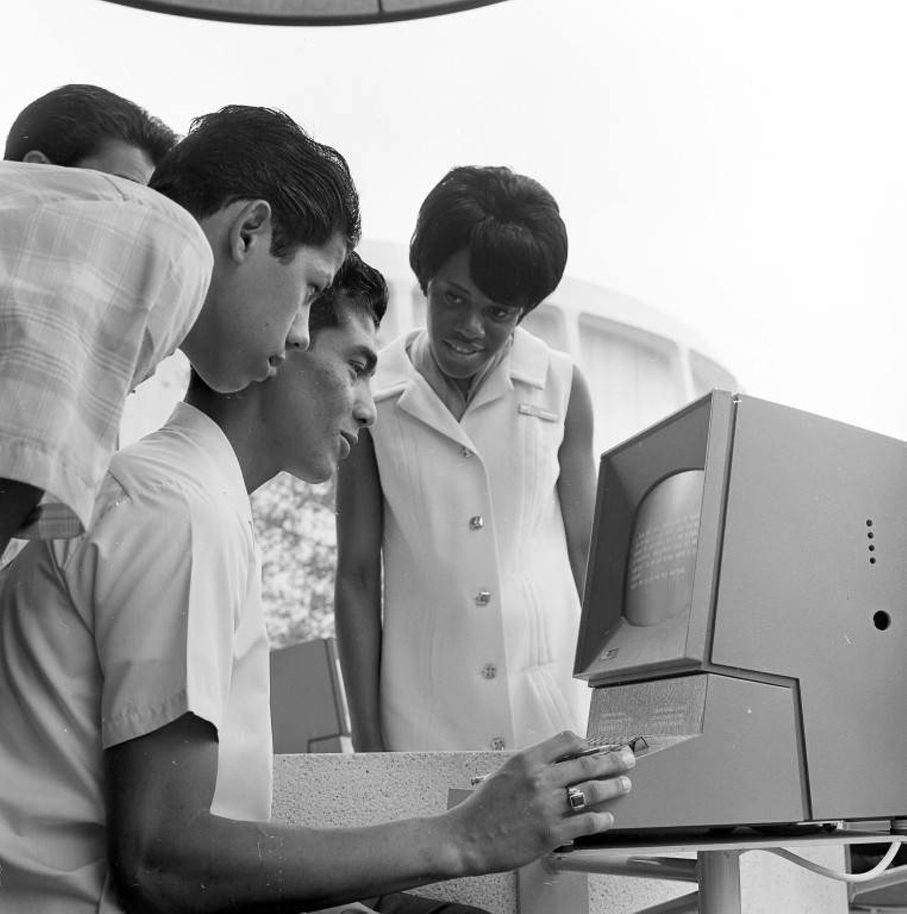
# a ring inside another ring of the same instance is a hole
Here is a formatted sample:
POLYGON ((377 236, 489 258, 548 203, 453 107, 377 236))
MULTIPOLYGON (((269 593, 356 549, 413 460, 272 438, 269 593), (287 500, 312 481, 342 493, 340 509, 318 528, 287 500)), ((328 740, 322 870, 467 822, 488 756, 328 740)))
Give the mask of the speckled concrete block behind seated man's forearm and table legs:
MULTIPOLYGON (((273 818, 275 822, 336 828, 443 813, 449 789, 468 788, 470 777, 494 771, 501 760, 501 753, 496 752, 279 755, 274 759, 273 818)), ((844 868, 844 851, 838 845, 797 848, 796 852, 823 866, 844 868)), ((576 873, 552 875, 547 887, 551 914, 586 914, 583 901, 589 914, 633 914, 690 890, 683 883, 596 874, 588 877, 586 893, 582 891, 585 878, 576 873), (577 879, 581 880, 579 886, 577 879), (571 900, 565 901, 568 898, 571 900)), ((847 914, 847 891, 842 883, 774 855, 743 855, 740 881, 743 914, 847 914)), ((519 914, 515 873, 454 879, 422 887, 419 892, 483 907, 492 914, 519 914)))

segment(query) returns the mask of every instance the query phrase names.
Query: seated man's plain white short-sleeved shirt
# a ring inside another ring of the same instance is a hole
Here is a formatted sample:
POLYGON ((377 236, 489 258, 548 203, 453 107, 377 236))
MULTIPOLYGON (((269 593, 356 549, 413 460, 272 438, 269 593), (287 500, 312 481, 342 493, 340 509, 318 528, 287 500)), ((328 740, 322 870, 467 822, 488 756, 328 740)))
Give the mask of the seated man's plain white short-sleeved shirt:
POLYGON ((268 641, 249 498, 180 404, 116 454, 91 527, 0 577, 0 910, 118 911, 103 749, 191 712, 218 729, 212 812, 267 820, 268 641))

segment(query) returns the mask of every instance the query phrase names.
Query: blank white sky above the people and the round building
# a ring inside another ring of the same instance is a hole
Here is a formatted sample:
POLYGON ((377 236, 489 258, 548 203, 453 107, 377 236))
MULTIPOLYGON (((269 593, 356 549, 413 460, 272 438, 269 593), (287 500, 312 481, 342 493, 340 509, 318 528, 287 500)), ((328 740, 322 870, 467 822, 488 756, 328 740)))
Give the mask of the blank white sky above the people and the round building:
POLYGON ((232 102, 347 156, 370 239, 451 165, 560 202, 568 272, 694 326, 755 396, 907 439, 907 4, 506 0, 368 27, 5 0, 0 132, 64 82, 185 132, 232 102))

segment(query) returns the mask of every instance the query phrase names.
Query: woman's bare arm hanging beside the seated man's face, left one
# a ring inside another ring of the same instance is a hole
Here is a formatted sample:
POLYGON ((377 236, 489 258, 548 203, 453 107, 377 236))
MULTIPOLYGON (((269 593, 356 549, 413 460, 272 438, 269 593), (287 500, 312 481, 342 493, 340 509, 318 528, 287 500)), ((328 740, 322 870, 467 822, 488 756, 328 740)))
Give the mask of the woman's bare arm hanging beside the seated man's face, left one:
POLYGON ((380 752, 381 537, 383 509, 375 446, 368 430, 340 465, 336 496, 334 619, 347 686, 353 745, 380 752))

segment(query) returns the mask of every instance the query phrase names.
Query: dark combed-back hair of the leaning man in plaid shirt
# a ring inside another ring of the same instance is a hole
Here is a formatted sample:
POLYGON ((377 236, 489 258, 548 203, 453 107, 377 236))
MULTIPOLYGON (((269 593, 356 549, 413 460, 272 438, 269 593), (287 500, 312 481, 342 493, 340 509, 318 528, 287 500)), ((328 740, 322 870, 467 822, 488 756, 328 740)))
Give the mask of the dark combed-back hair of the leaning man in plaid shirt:
POLYGON ((335 233, 349 250, 359 239, 359 197, 344 157, 270 108, 229 105, 196 118, 148 185, 196 218, 237 200, 267 200, 274 257, 320 247, 335 233))

